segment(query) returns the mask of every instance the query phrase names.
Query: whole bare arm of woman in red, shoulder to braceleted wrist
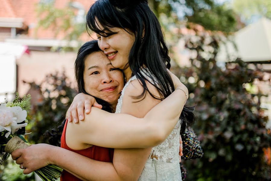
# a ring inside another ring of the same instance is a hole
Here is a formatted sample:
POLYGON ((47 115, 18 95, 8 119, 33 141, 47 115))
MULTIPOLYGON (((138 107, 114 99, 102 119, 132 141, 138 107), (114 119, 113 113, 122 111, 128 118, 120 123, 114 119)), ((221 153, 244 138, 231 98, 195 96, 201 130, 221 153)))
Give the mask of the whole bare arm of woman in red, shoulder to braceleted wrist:
POLYGON ((80 132, 85 142, 93 145, 106 148, 149 148, 160 144, 170 134, 179 119, 185 99, 184 92, 176 90, 143 118, 108 113, 92 107, 91 114, 85 114, 85 121, 68 125, 73 125, 74 135, 80 132))

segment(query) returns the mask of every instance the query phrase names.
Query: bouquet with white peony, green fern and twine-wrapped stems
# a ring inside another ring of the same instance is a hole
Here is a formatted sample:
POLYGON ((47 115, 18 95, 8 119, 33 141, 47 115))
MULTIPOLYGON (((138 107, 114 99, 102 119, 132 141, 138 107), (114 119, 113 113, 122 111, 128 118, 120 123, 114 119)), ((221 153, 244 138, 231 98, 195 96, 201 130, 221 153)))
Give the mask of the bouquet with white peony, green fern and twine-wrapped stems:
MULTIPOLYGON (((14 150, 29 147, 22 135, 27 125, 27 110, 30 109, 30 95, 24 96, 22 100, 16 93, 13 102, 0 104, 0 164, 8 159, 14 150), (23 128, 23 129, 22 129, 23 128)), ((55 165, 48 165, 35 173, 43 181, 57 180, 62 169, 55 165)))

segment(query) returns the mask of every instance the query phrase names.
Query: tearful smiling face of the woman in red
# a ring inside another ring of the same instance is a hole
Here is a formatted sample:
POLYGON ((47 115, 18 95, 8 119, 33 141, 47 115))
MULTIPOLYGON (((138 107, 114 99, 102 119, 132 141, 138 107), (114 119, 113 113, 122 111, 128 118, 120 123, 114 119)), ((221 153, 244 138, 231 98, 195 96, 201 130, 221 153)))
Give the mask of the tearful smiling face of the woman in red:
POLYGON ((124 86, 122 71, 113 67, 102 52, 88 55, 84 63, 83 77, 86 92, 116 107, 124 86))

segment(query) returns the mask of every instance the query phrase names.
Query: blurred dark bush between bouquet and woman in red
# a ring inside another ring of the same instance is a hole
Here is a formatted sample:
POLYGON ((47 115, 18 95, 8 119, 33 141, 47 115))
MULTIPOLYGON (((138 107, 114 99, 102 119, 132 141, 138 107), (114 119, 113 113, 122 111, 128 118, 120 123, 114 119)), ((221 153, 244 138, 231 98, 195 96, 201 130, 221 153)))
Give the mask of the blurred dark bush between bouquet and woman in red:
POLYGON ((47 75, 40 85, 34 82, 28 84, 30 91, 35 93, 32 97, 39 97, 39 100, 32 103, 32 121, 26 127, 26 132, 31 134, 26 137, 31 143, 48 143, 43 140, 44 132, 56 128, 65 119, 66 111, 77 91, 71 87, 65 72, 47 75))

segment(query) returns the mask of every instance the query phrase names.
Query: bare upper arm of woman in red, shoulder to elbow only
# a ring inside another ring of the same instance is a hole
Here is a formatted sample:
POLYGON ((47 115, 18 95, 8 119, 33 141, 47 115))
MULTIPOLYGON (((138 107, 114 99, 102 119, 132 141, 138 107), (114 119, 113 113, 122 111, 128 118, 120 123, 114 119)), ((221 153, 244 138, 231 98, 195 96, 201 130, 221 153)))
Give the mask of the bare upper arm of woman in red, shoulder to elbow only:
POLYGON ((158 144, 152 127, 153 124, 143 118, 106 113, 93 107, 90 115, 85 115, 84 121, 68 123, 66 134, 74 135, 80 143, 106 148, 149 148, 158 144))

